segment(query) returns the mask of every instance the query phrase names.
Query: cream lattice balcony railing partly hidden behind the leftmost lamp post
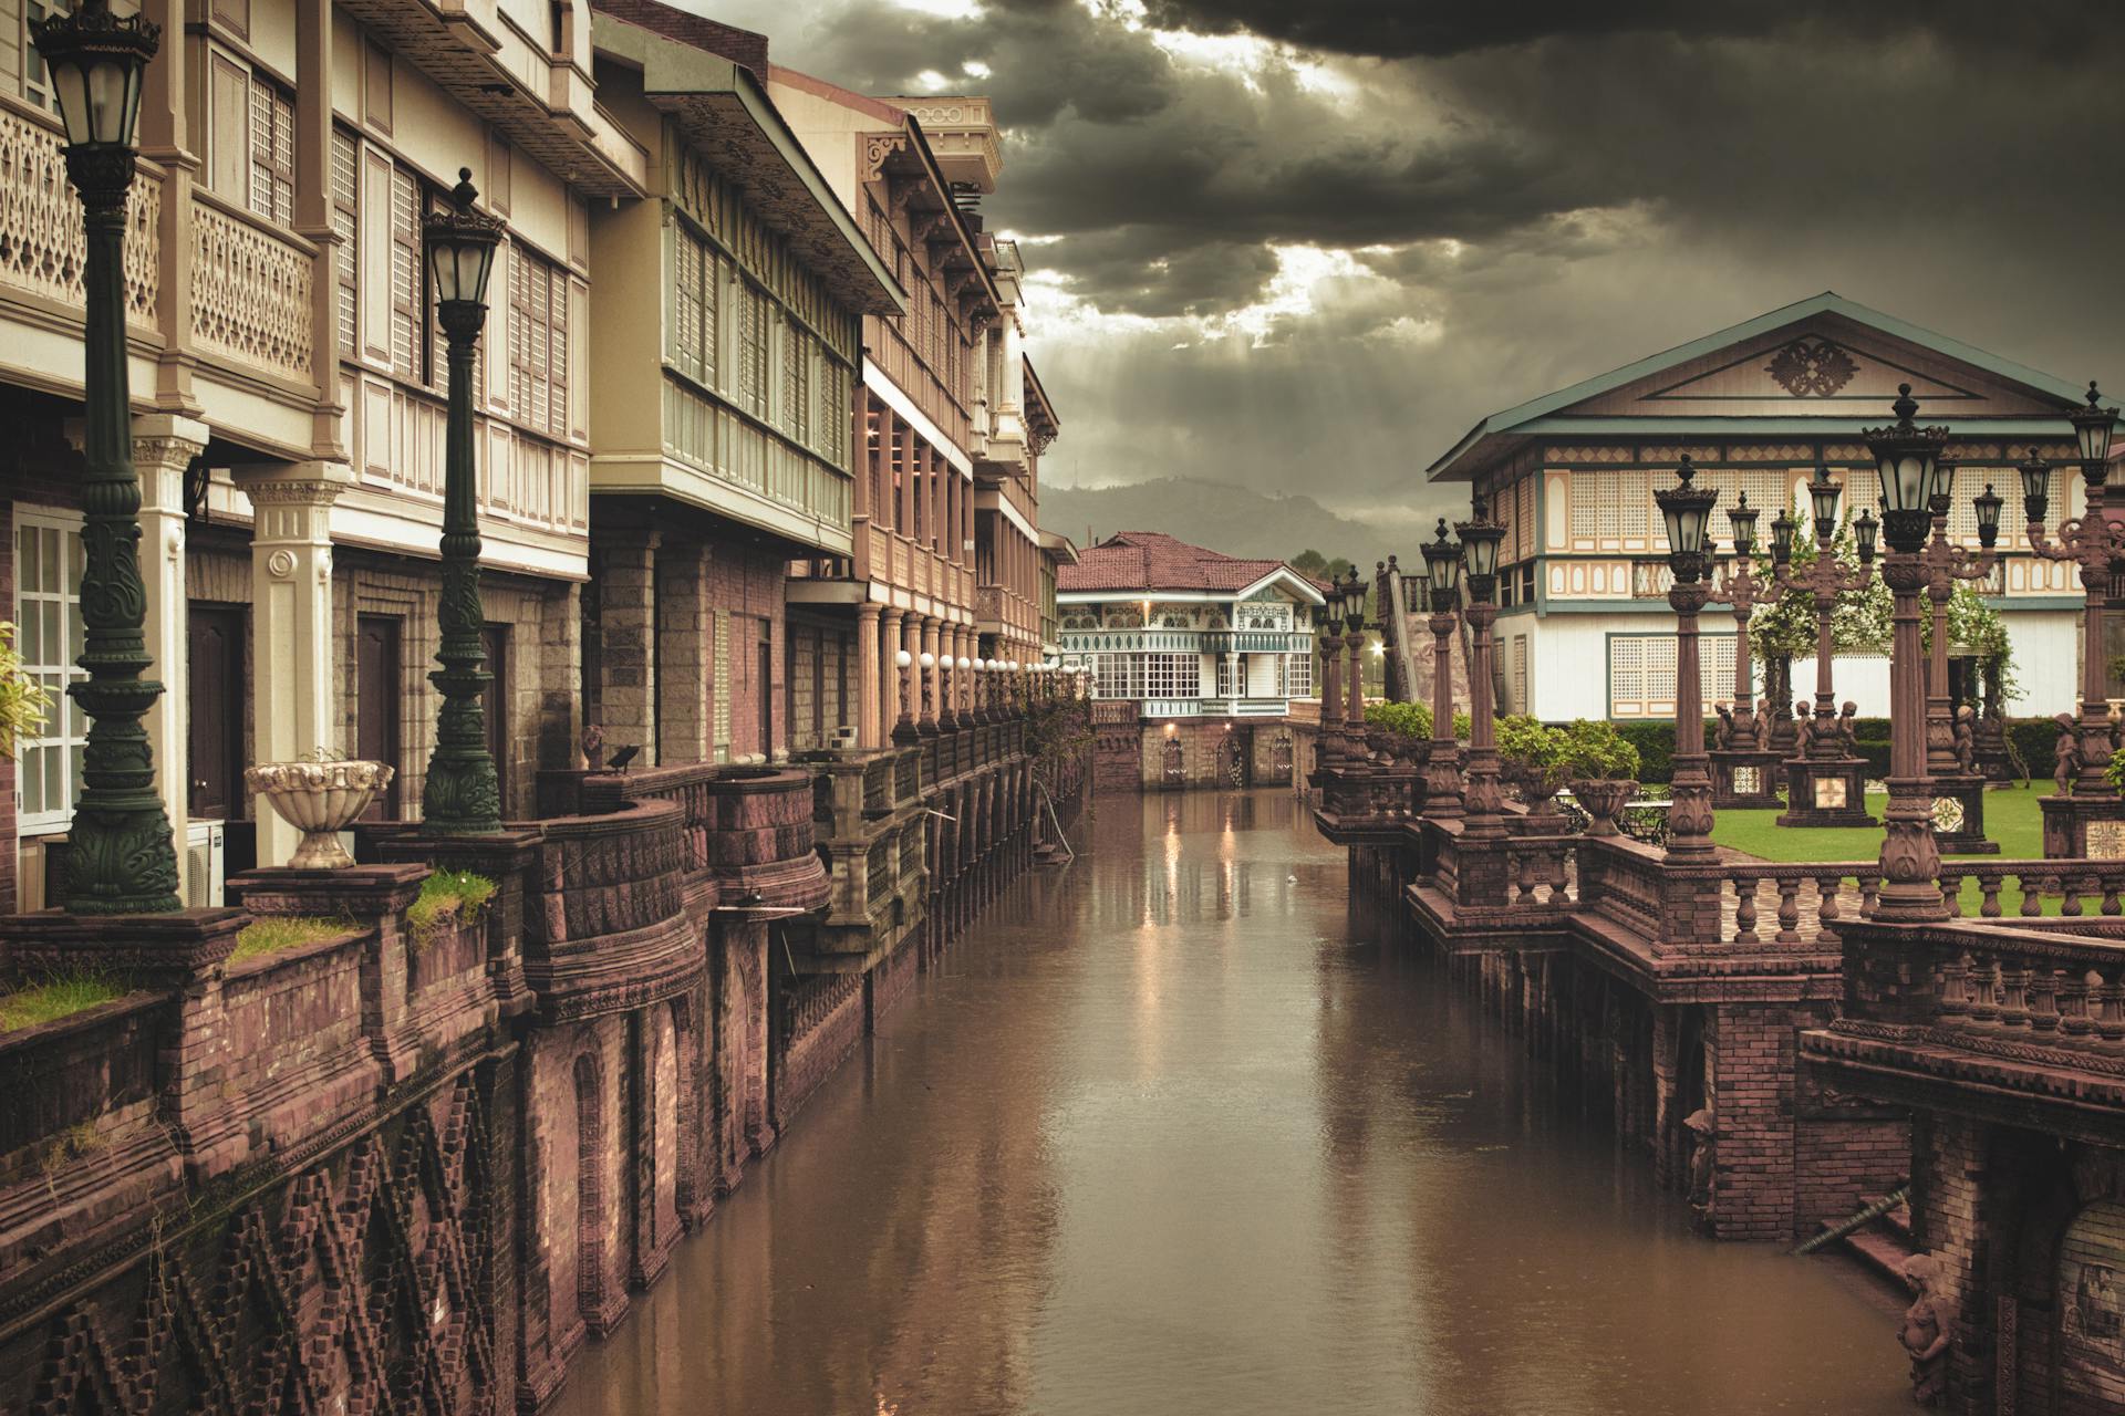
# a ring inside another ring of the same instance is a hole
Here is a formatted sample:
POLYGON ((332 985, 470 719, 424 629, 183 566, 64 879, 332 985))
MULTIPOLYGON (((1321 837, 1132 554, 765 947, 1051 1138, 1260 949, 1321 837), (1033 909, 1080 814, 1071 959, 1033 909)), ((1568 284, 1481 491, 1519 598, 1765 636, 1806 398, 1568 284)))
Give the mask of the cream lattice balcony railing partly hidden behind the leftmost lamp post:
MULTIPOLYGON (((142 168, 125 200, 125 323, 155 327, 162 293, 162 178, 142 168)), ((83 306, 87 236, 57 125, 0 104, 0 289, 83 306)), ((308 314, 304 316, 308 318, 308 314)))

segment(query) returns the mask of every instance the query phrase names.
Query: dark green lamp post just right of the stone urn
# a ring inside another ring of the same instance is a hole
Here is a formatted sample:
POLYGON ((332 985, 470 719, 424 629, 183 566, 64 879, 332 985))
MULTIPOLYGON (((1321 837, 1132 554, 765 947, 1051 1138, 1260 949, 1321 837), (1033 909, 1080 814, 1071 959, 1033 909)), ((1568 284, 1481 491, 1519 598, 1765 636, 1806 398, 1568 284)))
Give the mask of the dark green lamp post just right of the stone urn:
POLYGON ((427 265, 436 276, 436 316, 450 344, 450 412, 444 431, 442 486, 442 601, 436 622, 442 645, 427 675, 442 694, 436 722, 436 752, 427 760, 421 788, 421 817, 438 834, 502 830, 502 788, 495 758, 487 752, 487 652, 480 647, 480 507, 472 456, 472 350, 487 323, 487 276, 502 219, 472 210, 480 193, 472 168, 459 168, 450 208, 429 212, 423 223, 427 265))

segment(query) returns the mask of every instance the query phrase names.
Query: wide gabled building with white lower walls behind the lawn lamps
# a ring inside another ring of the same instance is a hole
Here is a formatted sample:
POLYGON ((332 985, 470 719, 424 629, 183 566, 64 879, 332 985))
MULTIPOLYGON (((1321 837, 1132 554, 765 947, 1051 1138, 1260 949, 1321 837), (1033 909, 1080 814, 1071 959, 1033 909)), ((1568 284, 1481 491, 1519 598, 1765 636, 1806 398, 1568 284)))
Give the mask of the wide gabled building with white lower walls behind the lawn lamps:
MULTIPOLYGON (((1674 713, 1674 616, 1653 490, 1687 452, 1719 490, 1715 533, 1747 495, 1768 541, 1779 507, 1806 514, 1817 467, 1844 484, 1847 518, 1878 507, 1859 429, 1889 422, 1910 384, 1921 422, 1951 429, 1961 463, 1949 531, 1976 546, 1970 499, 1989 482, 2010 514, 1987 592, 2014 639, 2017 713, 2070 707, 2080 590, 2068 565, 2029 556, 2014 463, 2038 448, 2072 459, 2066 412, 2085 388, 1823 293, 1475 425, 1430 467, 1468 482, 1507 535, 1498 554, 1502 707, 1545 720, 1666 720, 1674 713)), ((2080 478, 2053 473, 2053 516, 2078 516, 2080 478), (2072 501, 2070 501, 2072 499, 2072 501)), ((1732 696, 1732 618, 1704 616, 1704 701, 1732 696)), ((1796 673, 1802 688, 1813 675, 1796 673)), ((1757 667, 1762 684, 1762 667, 1757 667)), ((1887 713, 1887 660, 1838 664, 1838 696, 1887 713)))

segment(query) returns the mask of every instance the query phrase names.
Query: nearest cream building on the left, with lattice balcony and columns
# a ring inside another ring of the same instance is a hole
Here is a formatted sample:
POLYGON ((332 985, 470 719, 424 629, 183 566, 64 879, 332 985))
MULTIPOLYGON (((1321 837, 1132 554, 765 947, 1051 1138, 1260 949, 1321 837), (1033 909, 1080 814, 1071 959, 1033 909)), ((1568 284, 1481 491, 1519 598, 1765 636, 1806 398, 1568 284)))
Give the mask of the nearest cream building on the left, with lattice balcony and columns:
MULTIPOLYGON (((11 618, 60 690, 81 635, 81 208, 26 19, 0 0, 0 516, 11 618)), ((319 747, 397 766, 416 811, 434 730, 442 335, 421 217, 470 168, 506 240, 480 344, 482 603, 504 807, 567 764, 589 573, 589 208, 644 193, 648 155, 591 93, 586 8, 506 0, 149 0, 128 242, 134 456, 144 493, 151 715, 189 896, 278 862, 246 762, 319 747)), ((42 902, 85 722, 64 701, 0 764, 19 800, 0 896, 42 902), (15 868, 15 841, 21 868, 15 868), (19 885, 19 890, 17 890, 19 885)), ((4 904, 4 900, 0 900, 4 904)))

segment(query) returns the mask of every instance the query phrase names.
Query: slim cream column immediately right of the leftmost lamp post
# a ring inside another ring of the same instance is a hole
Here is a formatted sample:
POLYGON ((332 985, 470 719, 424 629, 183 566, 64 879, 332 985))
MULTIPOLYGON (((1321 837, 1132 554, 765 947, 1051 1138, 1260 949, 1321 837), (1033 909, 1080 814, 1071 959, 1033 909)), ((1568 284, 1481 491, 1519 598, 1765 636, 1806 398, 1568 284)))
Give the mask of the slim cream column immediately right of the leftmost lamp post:
MULTIPOLYGON (((162 696, 147 711, 147 745, 155 754, 155 794, 170 817, 178 860, 191 807, 189 656, 185 637, 185 469, 206 450, 206 425, 170 414, 134 418, 134 467, 140 471, 140 584, 147 590, 147 656, 162 696)), ((206 904, 208 900, 185 900, 206 904)))

